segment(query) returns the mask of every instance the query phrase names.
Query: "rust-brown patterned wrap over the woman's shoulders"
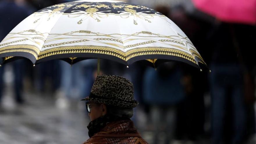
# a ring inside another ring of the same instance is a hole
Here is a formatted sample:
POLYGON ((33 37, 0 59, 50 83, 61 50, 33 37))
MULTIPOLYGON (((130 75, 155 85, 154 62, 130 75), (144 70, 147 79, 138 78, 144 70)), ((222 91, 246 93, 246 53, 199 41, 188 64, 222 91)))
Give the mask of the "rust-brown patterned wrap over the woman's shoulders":
POLYGON ((83 144, 147 144, 131 120, 120 120, 106 125, 83 144))

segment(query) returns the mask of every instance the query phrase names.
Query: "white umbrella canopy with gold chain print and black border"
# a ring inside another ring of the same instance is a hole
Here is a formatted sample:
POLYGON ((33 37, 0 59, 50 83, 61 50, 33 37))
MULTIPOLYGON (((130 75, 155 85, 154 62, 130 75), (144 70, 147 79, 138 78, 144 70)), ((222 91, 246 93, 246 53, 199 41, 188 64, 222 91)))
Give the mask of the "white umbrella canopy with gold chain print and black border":
POLYGON ((104 58, 130 65, 176 60, 206 65, 189 38, 161 13, 111 0, 81 0, 39 10, 19 23, 0 43, 4 61, 29 58, 75 63, 104 58))

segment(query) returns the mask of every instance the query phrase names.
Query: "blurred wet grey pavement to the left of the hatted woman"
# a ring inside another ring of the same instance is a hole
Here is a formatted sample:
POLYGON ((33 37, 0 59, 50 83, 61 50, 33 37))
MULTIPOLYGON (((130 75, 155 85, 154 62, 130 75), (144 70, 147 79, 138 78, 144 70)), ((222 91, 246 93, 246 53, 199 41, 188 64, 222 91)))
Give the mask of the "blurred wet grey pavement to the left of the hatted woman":
POLYGON ((49 95, 26 94, 25 98, 25 104, 16 105, 12 94, 4 95, 1 144, 79 144, 88 139, 89 119, 80 101, 60 108, 49 95))

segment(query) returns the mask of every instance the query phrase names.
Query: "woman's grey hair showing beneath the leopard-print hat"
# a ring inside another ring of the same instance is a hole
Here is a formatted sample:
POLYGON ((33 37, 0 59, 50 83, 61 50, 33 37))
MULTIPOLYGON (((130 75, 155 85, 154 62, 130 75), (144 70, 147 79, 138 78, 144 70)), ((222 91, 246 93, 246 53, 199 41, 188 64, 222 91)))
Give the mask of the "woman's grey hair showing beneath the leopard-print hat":
POLYGON ((119 106, 106 105, 107 115, 114 118, 131 118, 133 116, 133 108, 123 108, 119 106))

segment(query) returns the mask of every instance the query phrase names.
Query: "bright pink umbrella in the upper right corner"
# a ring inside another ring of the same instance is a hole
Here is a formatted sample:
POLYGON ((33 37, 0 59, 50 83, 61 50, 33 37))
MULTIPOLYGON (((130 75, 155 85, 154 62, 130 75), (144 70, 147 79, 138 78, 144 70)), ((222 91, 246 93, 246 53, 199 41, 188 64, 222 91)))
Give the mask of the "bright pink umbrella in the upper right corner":
POLYGON ((192 0, 195 7, 225 22, 256 24, 256 0, 192 0))

